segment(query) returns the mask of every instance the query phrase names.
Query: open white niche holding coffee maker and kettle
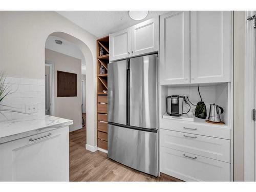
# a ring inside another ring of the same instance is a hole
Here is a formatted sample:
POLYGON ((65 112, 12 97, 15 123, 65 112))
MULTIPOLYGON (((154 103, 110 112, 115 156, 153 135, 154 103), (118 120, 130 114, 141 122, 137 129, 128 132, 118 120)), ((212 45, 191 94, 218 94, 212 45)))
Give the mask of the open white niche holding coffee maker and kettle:
MULTIPOLYGON (((206 105, 207 117, 209 115, 209 108, 210 104, 218 104, 224 109, 224 113, 221 114, 221 120, 225 122, 223 125, 218 125, 221 127, 230 127, 230 83, 218 83, 218 84, 200 84, 200 93, 202 96, 202 101, 204 101, 206 105)), ((166 106, 166 97, 170 95, 188 95, 188 98, 191 103, 197 104, 200 101, 200 96, 198 93, 198 84, 185 86, 182 87, 178 86, 160 86, 160 94, 161 94, 161 101, 160 101, 160 119, 163 118, 163 115, 167 112, 166 106)), ((192 112, 195 115, 195 108, 196 106, 191 105, 190 113, 192 112)), ((189 110, 189 105, 185 102, 183 103, 183 112, 186 113, 189 110)), ((207 119, 206 117, 206 119, 207 119)), ((206 119, 199 119, 194 117, 194 121, 189 123, 200 123, 200 124, 207 124, 207 125, 214 125, 205 122, 206 119)), ((176 121, 176 120, 175 120, 176 121)), ((187 122, 187 121, 186 121, 187 122)), ((217 126, 216 124, 214 126, 217 126)))

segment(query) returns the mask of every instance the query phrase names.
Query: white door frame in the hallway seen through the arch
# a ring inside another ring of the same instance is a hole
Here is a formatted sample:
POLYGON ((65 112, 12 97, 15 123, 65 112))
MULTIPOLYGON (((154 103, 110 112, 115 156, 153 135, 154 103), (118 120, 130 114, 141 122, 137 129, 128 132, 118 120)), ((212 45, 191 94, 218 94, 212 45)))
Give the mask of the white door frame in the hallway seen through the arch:
POLYGON ((45 66, 50 67, 50 89, 51 89, 51 95, 50 95, 50 106, 51 106, 51 116, 55 115, 55 70, 54 70, 54 63, 51 61, 46 61, 45 66))

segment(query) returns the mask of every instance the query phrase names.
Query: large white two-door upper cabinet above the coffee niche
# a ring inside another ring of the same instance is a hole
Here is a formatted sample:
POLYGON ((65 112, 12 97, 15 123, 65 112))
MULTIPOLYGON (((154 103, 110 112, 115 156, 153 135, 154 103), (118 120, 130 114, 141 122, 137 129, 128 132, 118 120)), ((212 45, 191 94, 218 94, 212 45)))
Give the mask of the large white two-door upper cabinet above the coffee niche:
POLYGON ((160 84, 231 80, 231 11, 160 16, 160 84))

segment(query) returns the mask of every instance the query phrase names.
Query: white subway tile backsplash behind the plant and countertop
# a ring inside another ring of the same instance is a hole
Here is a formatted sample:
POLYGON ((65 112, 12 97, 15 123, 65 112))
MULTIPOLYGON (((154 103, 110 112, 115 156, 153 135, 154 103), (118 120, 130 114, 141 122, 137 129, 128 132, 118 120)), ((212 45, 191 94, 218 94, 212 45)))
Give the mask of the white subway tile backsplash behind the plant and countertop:
MULTIPOLYGON (((2 100, 1 104, 10 106, 9 109, 25 113, 25 105, 37 104, 38 111, 33 115, 45 114, 45 79, 28 79, 7 77, 6 82, 13 93, 2 100)), ((4 112, 8 119, 26 117, 27 114, 4 112)), ((6 118, 0 114, 0 121, 6 118)))

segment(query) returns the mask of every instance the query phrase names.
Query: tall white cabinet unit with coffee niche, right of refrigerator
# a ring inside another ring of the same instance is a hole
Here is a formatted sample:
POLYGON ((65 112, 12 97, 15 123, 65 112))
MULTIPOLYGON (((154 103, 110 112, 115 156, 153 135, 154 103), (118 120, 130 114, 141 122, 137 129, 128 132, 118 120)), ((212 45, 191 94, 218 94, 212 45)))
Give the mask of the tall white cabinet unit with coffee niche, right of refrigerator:
POLYGON ((233 179, 232 14, 170 11, 160 16, 160 173, 184 181, 233 179), (196 103, 197 86, 207 110, 209 103, 223 106, 225 124, 198 118, 191 122, 164 118, 166 96, 187 94, 196 103))

